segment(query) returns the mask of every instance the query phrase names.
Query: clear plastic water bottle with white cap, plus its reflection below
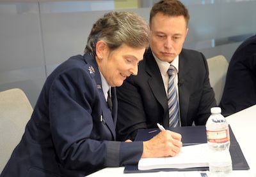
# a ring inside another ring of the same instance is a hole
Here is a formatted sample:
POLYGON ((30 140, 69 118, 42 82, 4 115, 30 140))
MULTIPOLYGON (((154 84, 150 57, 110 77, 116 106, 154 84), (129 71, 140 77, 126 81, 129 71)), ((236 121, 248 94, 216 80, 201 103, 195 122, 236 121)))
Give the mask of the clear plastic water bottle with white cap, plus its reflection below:
POLYGON ((211 116, 205 127, 209 146, 209 171, 212 176, 229 176, 232 173, 230 136, 228 123, 221 115, 220 107, 211 108, 211 116))

